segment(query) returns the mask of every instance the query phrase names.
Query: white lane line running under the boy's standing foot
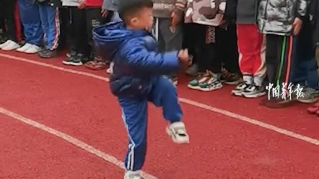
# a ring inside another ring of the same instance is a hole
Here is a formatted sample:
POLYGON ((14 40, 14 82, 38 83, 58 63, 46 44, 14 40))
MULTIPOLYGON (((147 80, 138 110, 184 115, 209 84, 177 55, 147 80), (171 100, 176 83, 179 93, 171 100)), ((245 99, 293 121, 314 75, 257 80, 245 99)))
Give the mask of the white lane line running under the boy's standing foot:
MULTIPOLYGON (((109 154, 106 154, 106 153, 104 153, 104 152, 102 152, 102 151, 100 151, 100 150, 98 150, 98 149, 96 149, 96 148, 94 148, 94 147, 92 147, 92 146, 90 146, 90 145, 88 145, 88 144, 86 144, 86 143, 84 143, 84 142, 82 142, 82 141, 80 141, 80 140, 68 135, 68 134, 65 134, 63 132, 55 130, 55 129, 51 128, 51 127, 48 127, 48 126, 46 126, 44 124, 36 122, 36 121, 34 121, 32 119, 23 117, 23 116, 21 116, 21 115, 19 115, 17 113, 14 113, 14 112, 9 111, 9 110, 7 110, 5 108, 2 108, 2 107, 0 107, 0 113, 4 114, 6 116, 9 116, 9 117, 11 117, 13 119, 16 119, 18 121, 21 121, 21 122, 23 122, 25 124, 28 124, 30 126, 33 126, 35 128, 38 128, 40 130, 43 130, 45 132, 48 132, 48 133, 50 133, 52 135, 55 135, 55 136, 57 136, 57 137, 59 137, 61 139, 64 139, 65 141, 67 141, 67 142, 69 142, 69 143, 71 143, 71 144, 73 144, 73 145, 75 145, 75 146, 77 146, 77 147, 79 147, 79 148, 81 148, 81 149, 83 149, 83 150, 85 150, 85 151, 97 156, 97 157, 100 157, 100 158, 104 159, 105 161, 120 167, 121 169, 124 169, 124 164, 120 160, 118 160, 115 157, 113 157, 113 156, 111 156, 109 154)), ((155 176, 152 176, 151 174, 148 174, 148 173, 145 173, 145 172, 142 172, 142 175, 146 179, 158 179, 155 176)))

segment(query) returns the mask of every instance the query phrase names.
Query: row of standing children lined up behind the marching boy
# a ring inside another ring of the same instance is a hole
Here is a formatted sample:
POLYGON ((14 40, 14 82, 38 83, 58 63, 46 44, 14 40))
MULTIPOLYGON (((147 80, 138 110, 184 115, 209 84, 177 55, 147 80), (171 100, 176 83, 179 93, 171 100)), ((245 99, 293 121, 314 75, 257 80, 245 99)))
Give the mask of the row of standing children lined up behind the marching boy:
MULTIPOLYGON (((92 30, 122 20, 117 1, 0 0, 0 48, 53 58, 67 45, 63 64, 105 69, 109 60, 96 52, 92 30)), ((312 103, 319 89, 317 1, 153 0, 153 34, 159 51, 189 50, 190 89, 235 85, 234 95, 267 96, 261 104, 284 107, 294 100, 268 99, 273 91, 265 84, 279 94, 300 85, 297 100, 312 103)), ((177 73, 167 74, 175 85, 177 73)))

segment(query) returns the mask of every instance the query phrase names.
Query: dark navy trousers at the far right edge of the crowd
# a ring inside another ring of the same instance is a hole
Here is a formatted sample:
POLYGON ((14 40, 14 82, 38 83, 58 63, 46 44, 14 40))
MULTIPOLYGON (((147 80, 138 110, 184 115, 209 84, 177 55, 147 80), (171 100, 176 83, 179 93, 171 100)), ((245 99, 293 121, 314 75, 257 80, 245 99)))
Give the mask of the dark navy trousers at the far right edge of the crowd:
POLYGON ((318 89, 317 62, 312 46, 311 26, 305 21, 299 35, 295 37, 296 50, 292 62, 292 83, 318 89))

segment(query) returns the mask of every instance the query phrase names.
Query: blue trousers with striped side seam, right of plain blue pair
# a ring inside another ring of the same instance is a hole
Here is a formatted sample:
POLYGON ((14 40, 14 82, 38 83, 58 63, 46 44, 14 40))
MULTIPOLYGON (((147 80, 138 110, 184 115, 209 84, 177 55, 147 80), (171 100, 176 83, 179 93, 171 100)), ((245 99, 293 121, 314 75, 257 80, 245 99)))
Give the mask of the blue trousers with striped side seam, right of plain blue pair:
POLYGON ((44 3, 39 4, 39 12, 45 46, 49 50, 54 50, 58 47, 60 37, 59 9, 44 3))

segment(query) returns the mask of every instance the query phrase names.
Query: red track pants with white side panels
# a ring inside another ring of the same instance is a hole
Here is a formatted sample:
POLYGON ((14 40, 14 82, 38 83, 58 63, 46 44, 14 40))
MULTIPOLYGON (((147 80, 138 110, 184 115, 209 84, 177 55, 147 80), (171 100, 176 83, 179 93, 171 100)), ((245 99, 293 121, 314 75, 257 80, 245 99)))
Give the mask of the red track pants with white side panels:
POLYGON ((266 37, 255 24, 237 24, 239 68, 243 75, 265 77, 266 37))

